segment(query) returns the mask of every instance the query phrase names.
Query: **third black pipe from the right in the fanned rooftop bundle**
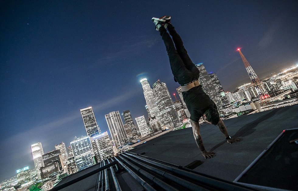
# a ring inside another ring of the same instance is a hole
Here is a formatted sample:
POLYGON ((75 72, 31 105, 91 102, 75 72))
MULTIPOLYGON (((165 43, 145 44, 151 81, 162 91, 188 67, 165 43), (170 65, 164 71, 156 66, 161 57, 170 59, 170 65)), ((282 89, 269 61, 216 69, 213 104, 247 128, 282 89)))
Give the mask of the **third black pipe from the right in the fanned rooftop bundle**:
POLYGON ((146 172, 145 170, 137 167, 133 163, 129 162, 128 160, 124 159, 121 154, 118 155, 120 159, 122 159, 126 164, 130 165, 133 169, 135 169, 140 174, 144 175, 146 178, 150 179, 152 182, 160 186, 162 189, 165 189, 167 191, 178 191, 174 187, 168 185, 167 183, 163 182, 161 179, 157 178, 156 176, 153 176, 152 174, 146 172))

